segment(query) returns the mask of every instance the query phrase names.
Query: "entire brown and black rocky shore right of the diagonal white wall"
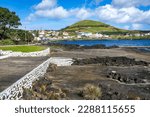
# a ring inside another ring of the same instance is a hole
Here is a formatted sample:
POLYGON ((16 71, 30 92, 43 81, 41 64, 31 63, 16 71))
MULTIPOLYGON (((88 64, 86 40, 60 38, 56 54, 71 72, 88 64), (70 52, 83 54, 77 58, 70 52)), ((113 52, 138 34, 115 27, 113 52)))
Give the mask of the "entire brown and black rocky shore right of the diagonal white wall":
POLYGON ((150 54, 134 49, 53 49, 52 57, 73 64, 51 64, 23 99, 150 100, 150 54))

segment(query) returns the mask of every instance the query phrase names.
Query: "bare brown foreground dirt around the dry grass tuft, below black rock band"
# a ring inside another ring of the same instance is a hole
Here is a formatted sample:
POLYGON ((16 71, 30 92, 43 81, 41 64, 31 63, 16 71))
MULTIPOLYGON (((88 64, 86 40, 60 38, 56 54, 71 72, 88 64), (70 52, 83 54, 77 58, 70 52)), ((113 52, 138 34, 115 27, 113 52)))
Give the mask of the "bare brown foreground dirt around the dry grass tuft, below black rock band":
MULTIPOLYGON (((79 93, 86 84, 101 86, 103 90, 101 99, 134 99, 136 97, 140 97, 140 99, 150 99, 150 85, 130 85, 109 79, 106 77, 106 74, 110 69, 114 70, 114 67, 110 68, 100 65, 58 67, 55 72, 51 73, 50 78, 53 85, 69 92, 67 94, 69 99, 83 99, 79 93), (115 92, 117 92, 118 95, 114 95, 115 92), (130 95, 133 95, 134 97, 131 97, 130 95)), ((115 70, 116 69, 119 68, 115 67, 115 70)), ((136 69, 135 67, 127 69, 125 69, 126 73, 132 73, 131 75, 136 73, 137 70, 139 72, 139 69, 136 69), (131 69, 134 69, 134 71, 130 71, 131 69)), ((119 70, 121 73, 125 72, 124 69, 119 70)))

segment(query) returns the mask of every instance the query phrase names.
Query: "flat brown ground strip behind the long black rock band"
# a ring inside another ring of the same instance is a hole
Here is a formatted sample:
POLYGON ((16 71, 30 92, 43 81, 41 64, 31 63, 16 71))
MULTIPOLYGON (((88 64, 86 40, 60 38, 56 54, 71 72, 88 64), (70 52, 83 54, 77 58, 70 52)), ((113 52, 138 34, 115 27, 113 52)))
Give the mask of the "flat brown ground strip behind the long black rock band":
POLYGON ((112 48, 112 49, 83 49, 64 51, 62 49, 54 49, 51 52, 52 57, 68 57, 68 58, 94 58, 94 57, 119 57, 125 56, 150 62, 150 53, 142 53, 133 48, 112 48))

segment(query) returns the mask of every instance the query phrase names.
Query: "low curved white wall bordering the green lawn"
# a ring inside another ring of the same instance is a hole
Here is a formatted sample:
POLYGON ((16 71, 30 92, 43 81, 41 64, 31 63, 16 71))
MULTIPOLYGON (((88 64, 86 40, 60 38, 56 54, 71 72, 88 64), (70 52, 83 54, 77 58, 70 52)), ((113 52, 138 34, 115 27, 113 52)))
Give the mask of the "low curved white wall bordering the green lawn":
MULTIPOLYGON (((0 55, 9 56, 9 57, 36 57, 36 56, 47 56, 50 53, 50 48, 38 51, 38 52, 12 52, 12 51, 2 51, 0 50, 0 55)), ((0 57, 1 58, 1 57, 0 57)))

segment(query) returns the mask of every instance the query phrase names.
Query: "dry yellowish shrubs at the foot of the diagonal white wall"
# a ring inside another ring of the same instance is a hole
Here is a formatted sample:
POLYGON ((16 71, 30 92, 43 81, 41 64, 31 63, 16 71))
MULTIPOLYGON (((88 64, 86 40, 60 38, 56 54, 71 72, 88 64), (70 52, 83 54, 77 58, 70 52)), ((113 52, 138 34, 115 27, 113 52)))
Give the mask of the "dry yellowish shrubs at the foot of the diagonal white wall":
POLYGON ((23 99, 26 100, 60 100, 65 98, 65 92, 52 85, 52 81, 45 77, 35 81, 32 89, 23 90, 23 99))

